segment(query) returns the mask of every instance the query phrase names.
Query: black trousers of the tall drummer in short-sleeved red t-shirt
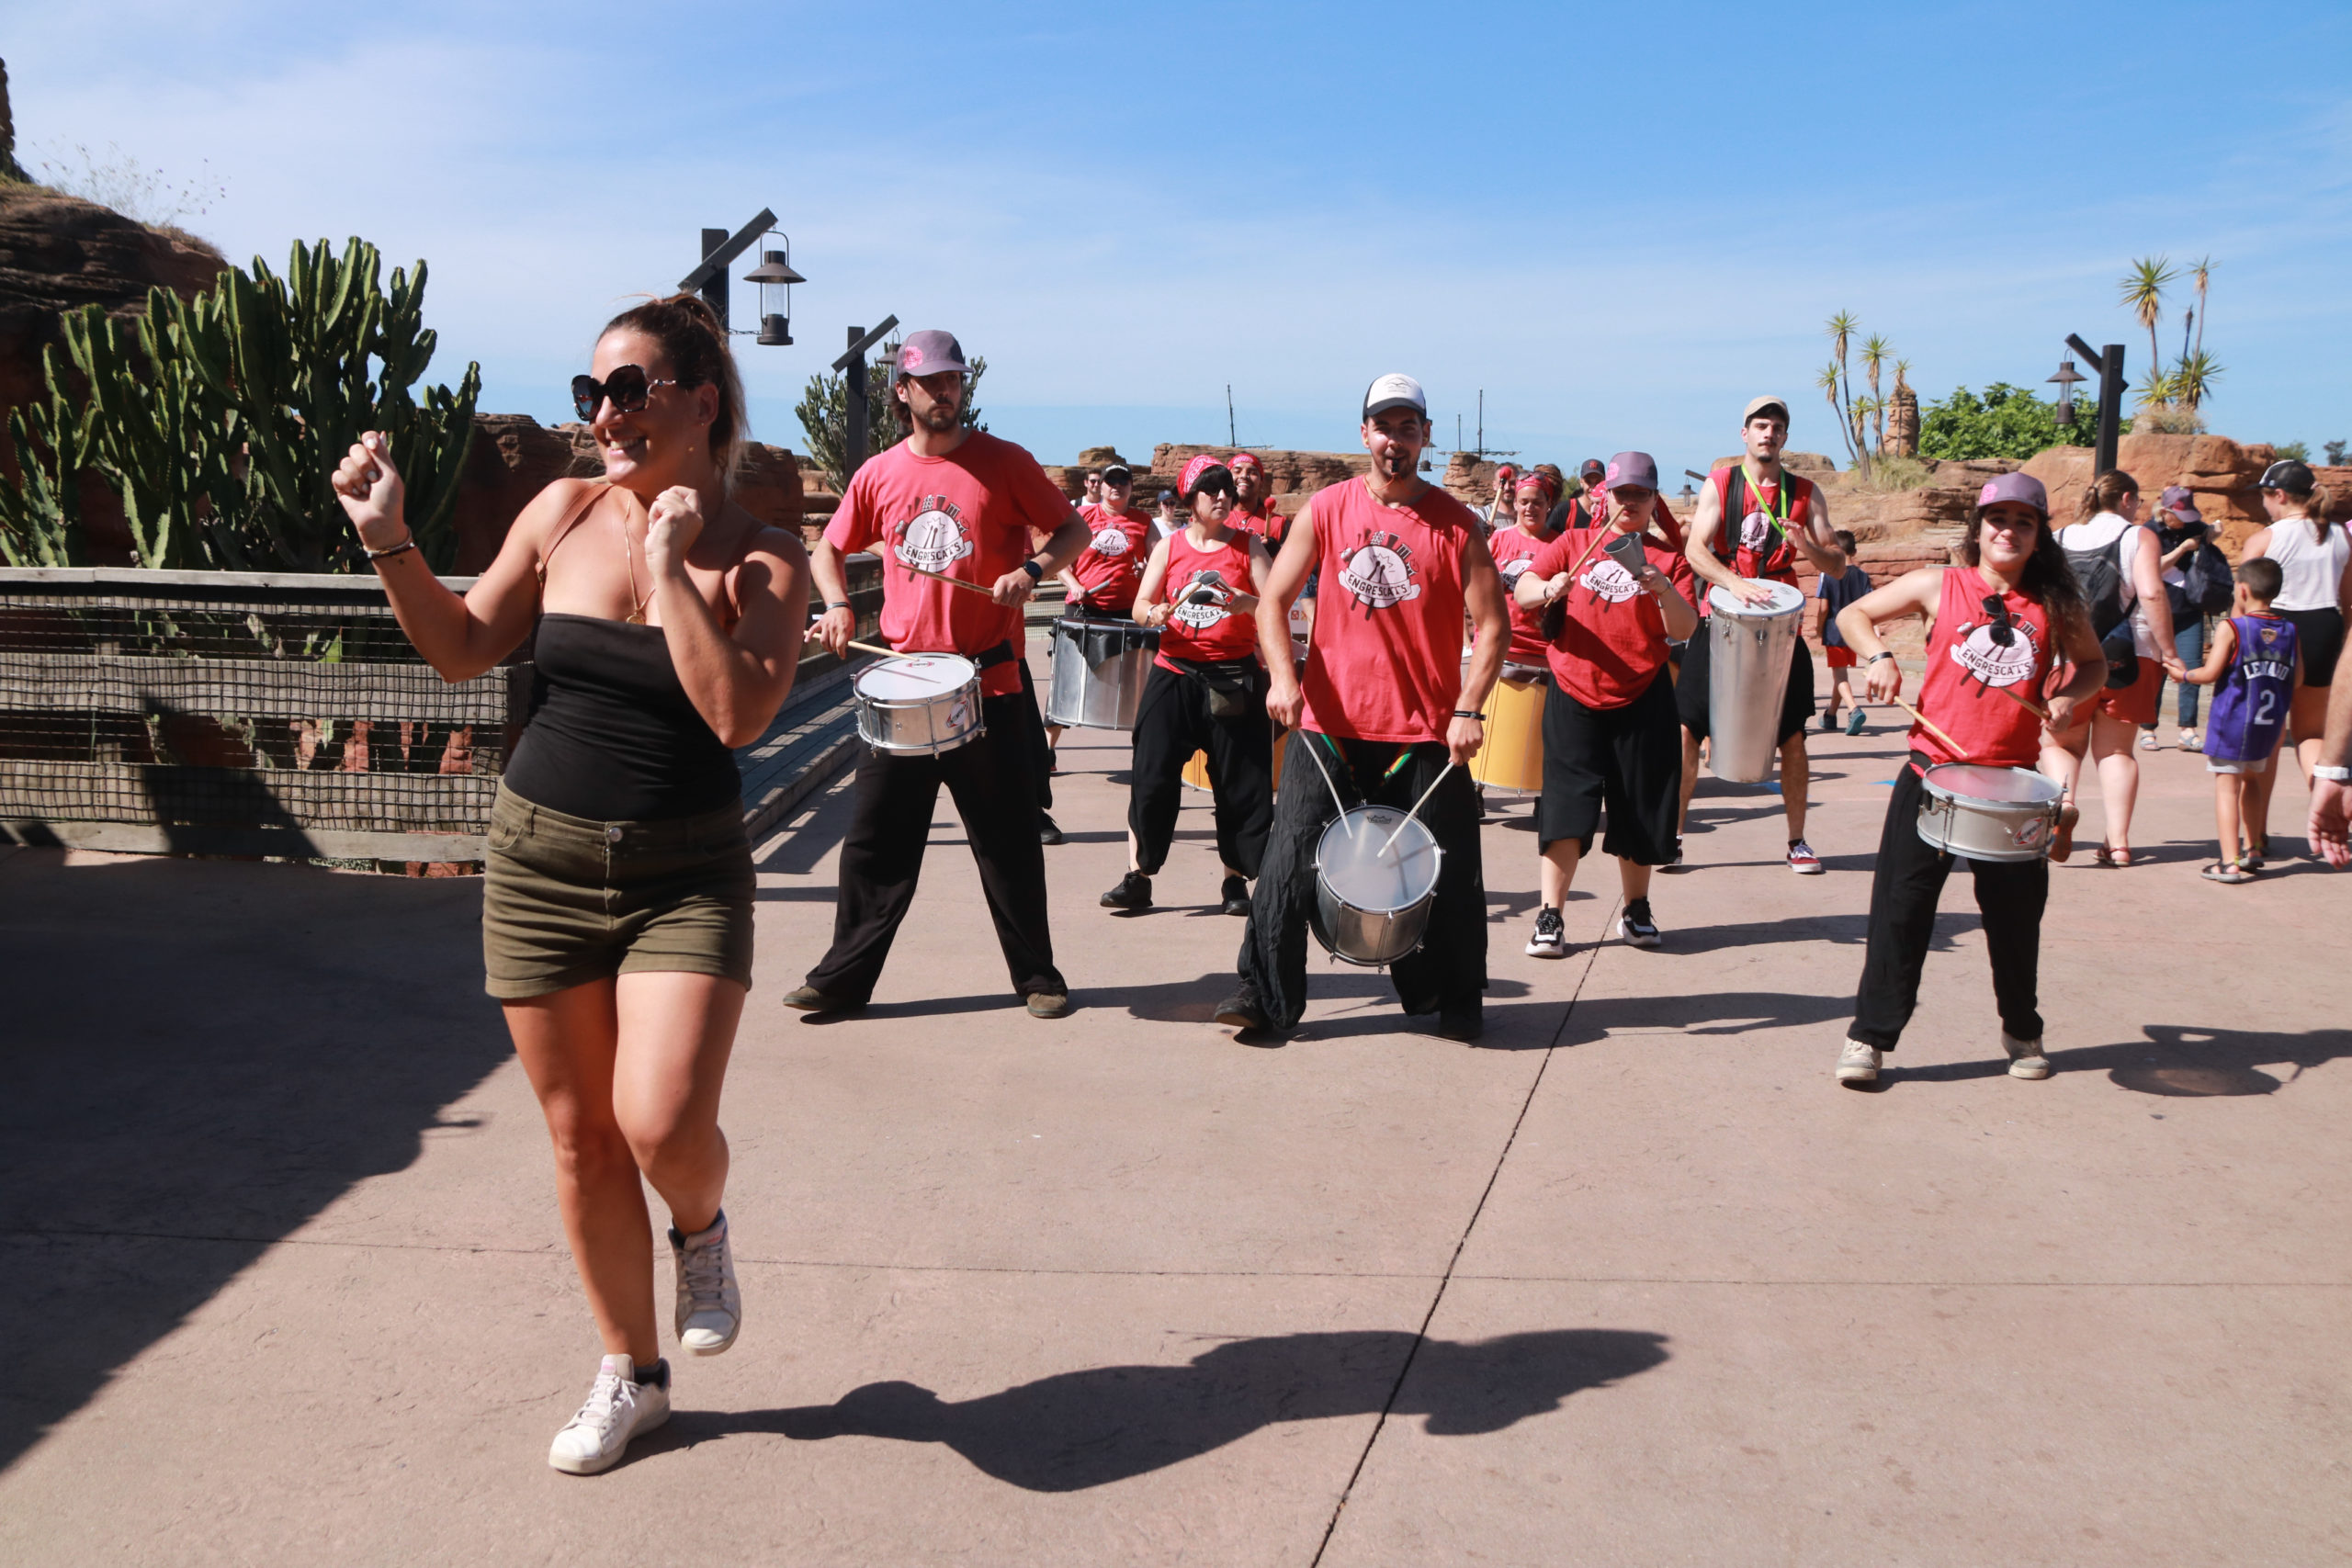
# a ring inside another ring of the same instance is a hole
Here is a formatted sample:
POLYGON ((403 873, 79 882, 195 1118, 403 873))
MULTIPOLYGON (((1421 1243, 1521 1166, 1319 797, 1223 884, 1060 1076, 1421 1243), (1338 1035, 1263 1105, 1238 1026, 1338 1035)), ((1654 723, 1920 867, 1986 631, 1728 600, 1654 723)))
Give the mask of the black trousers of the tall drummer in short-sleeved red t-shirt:
POLYGON ((943 783, 955 797, 955 813, 964 818, 971 858, 981 865, 981 891, 988 896, 1014 990, 1023 997, 1068 990, 1054 969, 1054 936, 1047 931, 1037 816, 1007 809, 1035 797, 1030 729, 1037 703, 1028 691, 985 696, 981 722, 988 726, 985 736, 938 757, 898 757, 868 748, 858 762, 856 806, 849 837, 842 839, 842 889, 833 905, 833 947, 809 971, 809 985, 828 997, 863 1004, 875 994, 898 922, 915 903, 943 783))

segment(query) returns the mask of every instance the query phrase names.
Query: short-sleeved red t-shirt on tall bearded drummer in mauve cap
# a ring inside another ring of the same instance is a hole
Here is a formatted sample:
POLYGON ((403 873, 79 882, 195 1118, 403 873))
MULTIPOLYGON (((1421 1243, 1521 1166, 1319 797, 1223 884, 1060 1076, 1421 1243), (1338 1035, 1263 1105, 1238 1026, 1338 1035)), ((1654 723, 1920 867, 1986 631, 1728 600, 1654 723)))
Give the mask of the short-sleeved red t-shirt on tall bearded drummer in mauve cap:
POLYGON ((908 567, 995 588, 1030 555, 1030 529, 1051 534, 1068 517, 1070 498, 1037 458, 974 430, 943 458, 915 456, 906 442, 868 458, 826 524, 826 543, 842 552, 882 545, 882 637, 894 649, 976 658, 1011 642, 1014 663, 981 672, 983 693, 1009 696, 1021 689, 1021 607, 908 567))

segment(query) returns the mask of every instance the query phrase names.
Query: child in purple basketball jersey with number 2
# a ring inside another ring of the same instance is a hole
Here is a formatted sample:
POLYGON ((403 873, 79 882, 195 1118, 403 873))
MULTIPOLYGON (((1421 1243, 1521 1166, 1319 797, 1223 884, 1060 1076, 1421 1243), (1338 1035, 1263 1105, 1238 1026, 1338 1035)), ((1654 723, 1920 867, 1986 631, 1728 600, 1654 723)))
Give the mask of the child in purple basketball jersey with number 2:
POLYGON ((2251 851, 2267 823, 2246 818, 2246 780, 2279 755, 2286 705, 2303 684, 2303 651, 2296 623, 2270 609, 2284 585, 2279 562, 2253 557, 2237 569, 2237 602, 2213 632, 2206 661, 2190 670, 2199 686, 2218 684, 2206 719, 2206 771, 2213 773, 2213 823, 2220 860, 2204 867, 2206 882, 2253 882, 2263 858, 2251 851), (2246 851, 2239 849, 2244 835, 2246 851))

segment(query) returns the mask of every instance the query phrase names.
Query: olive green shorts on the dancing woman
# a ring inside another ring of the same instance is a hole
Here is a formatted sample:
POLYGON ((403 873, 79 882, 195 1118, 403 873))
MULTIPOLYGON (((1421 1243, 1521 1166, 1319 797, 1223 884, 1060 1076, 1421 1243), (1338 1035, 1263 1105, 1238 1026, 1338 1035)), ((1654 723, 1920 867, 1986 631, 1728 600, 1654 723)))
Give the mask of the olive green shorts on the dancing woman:
POLYGON ((743 809, 590 823, 503 783, 482 867, 482 971, 501 1001, 630 971, 722 976, 750 990, 743 809))

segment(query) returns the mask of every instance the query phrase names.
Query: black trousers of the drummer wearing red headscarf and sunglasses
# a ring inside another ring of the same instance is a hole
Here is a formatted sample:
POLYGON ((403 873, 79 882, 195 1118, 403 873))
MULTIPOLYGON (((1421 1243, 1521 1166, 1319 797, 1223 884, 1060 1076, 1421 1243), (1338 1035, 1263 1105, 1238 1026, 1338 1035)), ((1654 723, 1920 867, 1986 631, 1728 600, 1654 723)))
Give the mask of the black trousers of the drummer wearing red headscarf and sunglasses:
POLYGON ((1127 795, 1136 870, 1145 877, 1169 860, 1176 813, 1183 811, 1183 764, 1202 750, 1209 752, 1216 802, 1216 853, 1244 877, 1258 875, 1265 830, 1275 823, 1275 726, 1265 717, 1265 670, 1249 684, 1249 712, 1218 719, 1209 712, 1207 679, 1155 663, 1136 701, 1134 785, 1127 795))

